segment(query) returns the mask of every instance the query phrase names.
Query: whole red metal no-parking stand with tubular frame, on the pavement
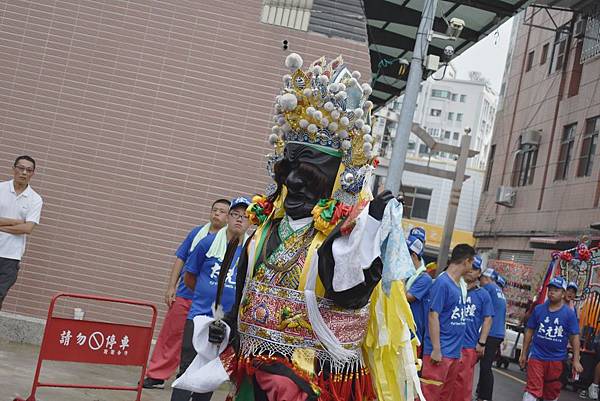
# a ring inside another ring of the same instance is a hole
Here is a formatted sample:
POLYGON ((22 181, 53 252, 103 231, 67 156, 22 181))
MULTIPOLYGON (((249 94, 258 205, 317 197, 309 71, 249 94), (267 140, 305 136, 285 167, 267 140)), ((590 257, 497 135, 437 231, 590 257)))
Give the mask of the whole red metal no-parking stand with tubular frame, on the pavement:
POLYGON ((82 294, 55 295, 48 308, 46 328, 33 378, 31 395, 26 400, 15 398, 14 401, 36 401, 35 393, 39 387, 137 391, 135 401, 140 401, 142 396, 142 382, 146 374, 146 361, 150 353, 150 344, 155 324, 156 307, 150 303, 82 294), (136 326, 54 317, 54 306, 59 298, 87 299, 148 307, 152 310, 152 323, 150 326, 136 326), (135 387, 45 383, 39 381, 42 362, 45 360, 141 366, 142 372, 138 385, 135 387))

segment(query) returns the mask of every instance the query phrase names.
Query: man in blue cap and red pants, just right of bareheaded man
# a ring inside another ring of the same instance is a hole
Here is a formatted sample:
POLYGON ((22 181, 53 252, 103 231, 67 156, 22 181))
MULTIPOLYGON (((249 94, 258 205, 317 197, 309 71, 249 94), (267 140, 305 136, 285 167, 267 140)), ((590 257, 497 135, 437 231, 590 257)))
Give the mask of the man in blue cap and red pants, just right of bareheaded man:
POLYGON ((486 290, 479 287, 479 275, 483 261, 475 256, 473 270, 465 275, 467 282, 467 302, 465 304, 466 330, 452 398, 448 401, 471 401, 473 399, 473 374, 475 365, 483 355, 494 308, 486 290))

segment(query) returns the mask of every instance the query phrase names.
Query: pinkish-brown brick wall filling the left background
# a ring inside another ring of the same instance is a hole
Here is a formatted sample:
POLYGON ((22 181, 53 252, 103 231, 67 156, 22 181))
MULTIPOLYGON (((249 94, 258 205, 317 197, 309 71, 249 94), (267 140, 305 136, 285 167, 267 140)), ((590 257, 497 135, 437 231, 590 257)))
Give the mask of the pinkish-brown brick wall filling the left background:
POLYGON ((0 180, 30 154, 45 201, 4 311, 43 316, 52 294, 70 291, 164 312, 179 241, 214 199, 268 182, 281 41, 306 62, 341 53, 369 76, 366 43, 264 25, 260 10, 260 0, 0 1, 0 180))

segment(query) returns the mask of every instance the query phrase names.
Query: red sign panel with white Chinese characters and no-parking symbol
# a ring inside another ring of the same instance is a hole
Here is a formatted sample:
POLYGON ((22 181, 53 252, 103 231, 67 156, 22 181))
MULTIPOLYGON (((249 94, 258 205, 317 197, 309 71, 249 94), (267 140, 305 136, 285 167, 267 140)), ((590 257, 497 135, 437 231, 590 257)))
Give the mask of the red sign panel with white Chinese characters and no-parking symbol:
POLYGON ((42 358, 53 361, 143 365, 152 339, 149 327, 52 318, 42 358))

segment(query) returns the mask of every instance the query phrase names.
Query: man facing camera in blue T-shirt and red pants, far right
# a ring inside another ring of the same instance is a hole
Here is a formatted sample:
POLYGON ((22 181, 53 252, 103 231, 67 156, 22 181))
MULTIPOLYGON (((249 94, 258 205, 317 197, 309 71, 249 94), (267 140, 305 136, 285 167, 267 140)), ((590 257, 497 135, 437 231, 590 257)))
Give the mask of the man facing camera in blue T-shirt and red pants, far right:
POLYGON ((565 305, 566 290, 567 281, 563 277, 551 279, 548 300, 536 306, 527 321, 523 352, 519 358, 521 368, 527 365, 523 401, 558 400, 569 342, 573 350, 573 369, 577 373, 583 371, 579 361, 579 323, 575 312, 565 305))

